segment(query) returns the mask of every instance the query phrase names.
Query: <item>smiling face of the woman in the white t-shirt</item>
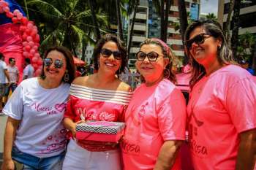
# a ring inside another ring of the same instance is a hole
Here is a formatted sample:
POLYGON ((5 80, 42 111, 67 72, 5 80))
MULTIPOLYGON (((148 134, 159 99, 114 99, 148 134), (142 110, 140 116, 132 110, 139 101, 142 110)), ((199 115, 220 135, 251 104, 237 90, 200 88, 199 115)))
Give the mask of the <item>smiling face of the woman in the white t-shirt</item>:
POLYGON ((50 66, 44 66, 45 78, 61 82, 67 68, 65 56, 57 50, 52 50, 50 53, 48 53, 46 58, 50 58, 52 63, 50 66), (63 63, 61 68, 56 68, 56 66, 54 66, 56 60, 59 60, 63 63))

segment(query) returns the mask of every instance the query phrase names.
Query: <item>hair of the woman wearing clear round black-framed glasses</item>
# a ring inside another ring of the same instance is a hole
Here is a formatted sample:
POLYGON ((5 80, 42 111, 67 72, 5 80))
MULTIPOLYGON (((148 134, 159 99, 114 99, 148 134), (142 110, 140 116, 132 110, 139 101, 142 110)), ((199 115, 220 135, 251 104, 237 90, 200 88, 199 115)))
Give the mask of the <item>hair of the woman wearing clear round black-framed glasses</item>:
MULTIPOLYGON (((167 64, 167 66, 165 67, 166 70, 168 70, 167 72, 169 73, 165 73, 165 70, 162 74, 164 74, 164 77, 167 78, 168 80, 170 80, 173 83, 176 83, 176 76, 172 71, 172 67, 173 67, 173 58, 175 58, 175 55, 173 54, 172 50, 170 50, 170 47, 168 47, 165 42, 162 42, 162 40, 160 39, 156 39, 156 38, 152 38, 152 39, 146 39, 144 42, 142 42, 140 44, 140 48, 143 45, 158 45, 159 47, 161 47, 162 49, 162 54, 164 55, 164 58, 168 58, 169 59, 169 63, 167 64), (167 77, 166 77, 167 76, 167 77)), ((144 81, 144 77, 141 77, 142 81, 144 81)))

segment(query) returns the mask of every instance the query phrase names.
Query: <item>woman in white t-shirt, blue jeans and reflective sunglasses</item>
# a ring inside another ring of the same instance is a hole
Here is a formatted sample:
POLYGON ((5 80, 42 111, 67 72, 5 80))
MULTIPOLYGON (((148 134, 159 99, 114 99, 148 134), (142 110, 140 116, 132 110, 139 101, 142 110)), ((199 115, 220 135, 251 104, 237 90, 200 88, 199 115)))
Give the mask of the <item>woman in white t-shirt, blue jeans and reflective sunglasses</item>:
POLYGON ((4 135, 2 169, 61 169, 66 149, 62 125, 75 78, 72 54, 65 47, 51 47, 45 53, 40 77, 24 80, 3 109, 8 116, 4 135))

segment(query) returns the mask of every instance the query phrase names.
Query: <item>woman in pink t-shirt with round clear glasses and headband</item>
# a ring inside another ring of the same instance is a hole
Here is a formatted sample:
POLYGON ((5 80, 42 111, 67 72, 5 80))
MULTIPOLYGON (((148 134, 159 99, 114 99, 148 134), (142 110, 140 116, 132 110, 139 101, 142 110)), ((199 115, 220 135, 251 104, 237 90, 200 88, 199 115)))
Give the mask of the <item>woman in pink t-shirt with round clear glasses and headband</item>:
POLYGON ((124 170, 181 169, 178 150, 185 139, 186 104, 171 82, 170 47, 160 39, 147 39, 136 57, 143 84, 125 114, 124 170))

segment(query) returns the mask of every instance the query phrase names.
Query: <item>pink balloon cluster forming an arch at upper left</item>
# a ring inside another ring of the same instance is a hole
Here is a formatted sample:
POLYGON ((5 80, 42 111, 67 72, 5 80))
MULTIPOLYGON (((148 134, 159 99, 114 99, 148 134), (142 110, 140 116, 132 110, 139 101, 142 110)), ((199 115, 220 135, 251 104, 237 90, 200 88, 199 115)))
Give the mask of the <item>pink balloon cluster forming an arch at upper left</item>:
POLYGON ((28 18, 23 16, 20 10, 15 9, 13 12, 10 12, 9 4, 4 0, 0 0, 1 13, 5 13, 7 18, 11 18, 12 23, 20 23, 20 32, 23 40, 23 57, 30 58, 35 75, 38 76, 42 70, 42 58, 40 58, 38 52, 40 37, 37 26, 34 25, 33 21, 29 21, 28 18))

